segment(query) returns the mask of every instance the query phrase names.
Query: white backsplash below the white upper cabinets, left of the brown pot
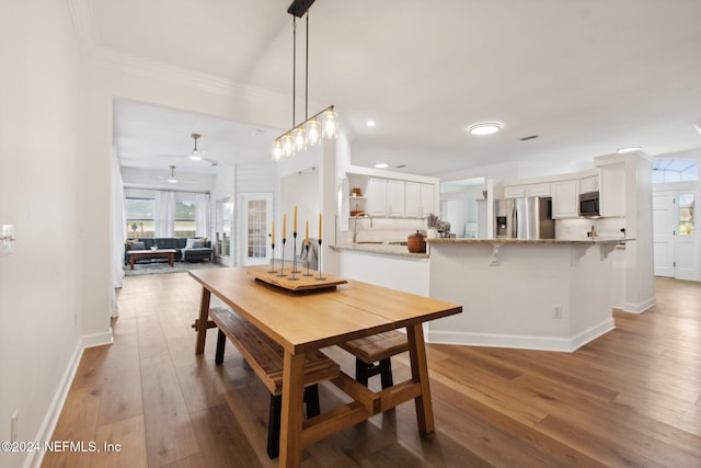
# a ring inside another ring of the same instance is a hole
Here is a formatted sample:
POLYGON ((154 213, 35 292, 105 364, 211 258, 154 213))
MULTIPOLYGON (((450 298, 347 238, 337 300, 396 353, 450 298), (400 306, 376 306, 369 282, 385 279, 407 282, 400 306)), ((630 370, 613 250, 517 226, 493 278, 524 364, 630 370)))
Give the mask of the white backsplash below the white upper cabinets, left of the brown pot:
MULTIPOLYGON (((356 220, 350 218, 348 221, 348 230, 337 230, 336 243, 350 243, 353 242, 353 229, 356 220)), ((384 242, 403 240, 422 230, 426 232, 425 219, 400 219, 400 218, 372 218, 372 226, 370 226, 370 218, 359 217, 357 219, 357 238, 358 242, 384 242)))

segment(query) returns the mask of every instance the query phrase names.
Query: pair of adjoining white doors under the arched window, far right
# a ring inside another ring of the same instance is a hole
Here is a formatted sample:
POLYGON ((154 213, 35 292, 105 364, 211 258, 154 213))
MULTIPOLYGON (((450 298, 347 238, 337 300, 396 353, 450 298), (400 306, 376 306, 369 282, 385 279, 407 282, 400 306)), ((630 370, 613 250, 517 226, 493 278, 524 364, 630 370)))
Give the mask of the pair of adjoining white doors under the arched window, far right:
POLYGON ((699 279, 698 190, 653 193, 655 275, 699 279))

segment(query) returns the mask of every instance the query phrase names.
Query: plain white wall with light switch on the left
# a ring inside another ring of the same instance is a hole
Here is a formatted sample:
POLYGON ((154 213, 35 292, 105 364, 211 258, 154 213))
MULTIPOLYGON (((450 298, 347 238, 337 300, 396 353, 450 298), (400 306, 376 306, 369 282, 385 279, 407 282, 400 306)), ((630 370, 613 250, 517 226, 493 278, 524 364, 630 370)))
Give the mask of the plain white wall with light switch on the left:
MULTIPOLYGON (((16 238, 14 253, 0 256, 0 441, 10 440, 15 410, 19 441, 36 441, 50 435, 57 389, 70 384, 89 321, 78 246, 108 265, 110 180, 95 219, 104 235, 89 242, 81 179, 91 155, 77 140, 80 59, 66 3, 3 2, 0 57, 0 224, 13 224, 16 238)), ((104 160, 108 167, 108 148, 104 160)), ((108 323, 106 300, 102 311, 108 323)), ((32 456, 3 450, 0 466, 32 456)))

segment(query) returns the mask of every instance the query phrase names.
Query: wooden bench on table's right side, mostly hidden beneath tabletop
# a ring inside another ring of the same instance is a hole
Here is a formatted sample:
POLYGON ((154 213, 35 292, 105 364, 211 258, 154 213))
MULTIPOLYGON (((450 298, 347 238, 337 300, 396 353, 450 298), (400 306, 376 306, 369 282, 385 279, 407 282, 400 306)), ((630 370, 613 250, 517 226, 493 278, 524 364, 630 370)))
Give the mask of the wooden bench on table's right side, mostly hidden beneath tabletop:
POLYGON ((380 374, 382 388, 394 385, 390 357, 409 351, 406 335, 398 330, 358 338, 340 344, 355 356, 355 379, 368 386, 368 379, 380 374), (378 364, 375 364, 378 363, 378 364))

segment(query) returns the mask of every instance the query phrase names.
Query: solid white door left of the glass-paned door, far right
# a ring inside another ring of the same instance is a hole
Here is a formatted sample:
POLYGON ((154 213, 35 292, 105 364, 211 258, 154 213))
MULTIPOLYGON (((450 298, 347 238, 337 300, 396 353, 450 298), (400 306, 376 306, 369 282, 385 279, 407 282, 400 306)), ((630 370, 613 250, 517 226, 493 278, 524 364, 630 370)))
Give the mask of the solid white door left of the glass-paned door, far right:
POLYGON ((653 248, 656 276, 675 276, 674 192, 653 193, 653 248))

